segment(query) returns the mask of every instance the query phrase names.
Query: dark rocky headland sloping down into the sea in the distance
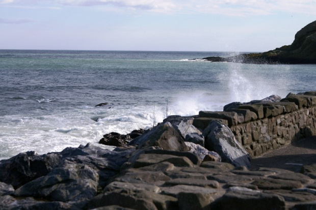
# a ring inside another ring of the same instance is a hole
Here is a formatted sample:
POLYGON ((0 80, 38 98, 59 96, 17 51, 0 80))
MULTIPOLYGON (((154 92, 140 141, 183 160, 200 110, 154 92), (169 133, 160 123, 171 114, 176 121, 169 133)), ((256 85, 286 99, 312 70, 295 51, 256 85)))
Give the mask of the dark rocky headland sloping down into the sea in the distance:
POLYGON ((292 44, 262 53, 237 56, 206 57, 212 62, 235 62, 250 64, 316 64, 316 21, 296 33, 292 44))

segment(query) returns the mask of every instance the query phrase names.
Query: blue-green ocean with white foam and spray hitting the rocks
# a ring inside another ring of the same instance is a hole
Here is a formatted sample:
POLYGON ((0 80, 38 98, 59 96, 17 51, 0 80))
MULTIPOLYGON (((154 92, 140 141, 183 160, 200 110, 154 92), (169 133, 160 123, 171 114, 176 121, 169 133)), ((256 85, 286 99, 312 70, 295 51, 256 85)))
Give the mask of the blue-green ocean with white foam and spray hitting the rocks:
POLYGON ((234 54, 0 50, 0 160, 87 143, 111 149, 102 135, 150 128, 154 118, 316 90, 316 65, 190 60, 234 54))

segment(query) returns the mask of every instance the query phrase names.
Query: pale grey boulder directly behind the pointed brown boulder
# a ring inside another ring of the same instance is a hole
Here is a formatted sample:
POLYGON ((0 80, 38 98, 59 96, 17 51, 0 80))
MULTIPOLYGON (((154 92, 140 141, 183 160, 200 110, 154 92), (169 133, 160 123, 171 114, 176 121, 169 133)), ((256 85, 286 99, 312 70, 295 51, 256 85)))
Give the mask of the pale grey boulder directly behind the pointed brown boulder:
POLYGON ((164 119, 164 122, 170 122, 186 142, 193 142, 204 146, 202 132, 192 125, 193 120, 193 117, 169 116, 164 119))

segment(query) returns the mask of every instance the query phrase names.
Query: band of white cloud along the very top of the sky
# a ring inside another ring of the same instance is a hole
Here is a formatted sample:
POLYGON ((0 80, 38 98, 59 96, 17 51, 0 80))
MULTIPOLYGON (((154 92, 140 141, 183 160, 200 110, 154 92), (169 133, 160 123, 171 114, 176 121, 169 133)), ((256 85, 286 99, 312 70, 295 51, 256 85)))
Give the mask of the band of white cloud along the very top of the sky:
POLYGON ((230 16, 291 12, 316 15, 316 0, 0 0, 0 4, 48 4, 51 6, 112 7, 163 13, 208 13, 230 16))

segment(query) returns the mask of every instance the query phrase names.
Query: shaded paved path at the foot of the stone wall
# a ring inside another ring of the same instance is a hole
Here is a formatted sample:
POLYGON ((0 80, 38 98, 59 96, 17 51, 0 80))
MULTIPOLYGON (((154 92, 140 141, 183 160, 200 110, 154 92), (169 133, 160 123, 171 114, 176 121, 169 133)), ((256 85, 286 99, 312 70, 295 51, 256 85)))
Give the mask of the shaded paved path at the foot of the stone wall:
POLYGON ((299 140, 292 145, 254 158, 250 169, 281 168, 300 172, 302 165, 316 163, 316 136, 299 140))

